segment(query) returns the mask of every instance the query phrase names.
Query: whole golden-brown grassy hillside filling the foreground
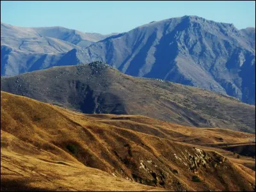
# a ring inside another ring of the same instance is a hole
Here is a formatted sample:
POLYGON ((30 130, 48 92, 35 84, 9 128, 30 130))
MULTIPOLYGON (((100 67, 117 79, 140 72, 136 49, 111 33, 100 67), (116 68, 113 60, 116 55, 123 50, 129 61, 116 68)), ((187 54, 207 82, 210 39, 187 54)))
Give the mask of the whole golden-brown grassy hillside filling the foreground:
POLYGON ((252 191, 255 172, 207 145, 253 136, 84 115, 1 92, 1 190, 252 191))

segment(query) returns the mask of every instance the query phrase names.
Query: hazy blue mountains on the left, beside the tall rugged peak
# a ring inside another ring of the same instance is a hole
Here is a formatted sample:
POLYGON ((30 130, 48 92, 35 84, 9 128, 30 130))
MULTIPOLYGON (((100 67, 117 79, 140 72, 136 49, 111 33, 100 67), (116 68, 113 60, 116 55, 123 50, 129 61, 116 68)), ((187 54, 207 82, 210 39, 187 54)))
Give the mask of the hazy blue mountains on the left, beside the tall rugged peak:
POLYGON ((59 61, 63 65, 67 51, 87 47, 108 36, 61 27, 20 28, 1 22, 1 76, 48 68, 59 65, 59 61))

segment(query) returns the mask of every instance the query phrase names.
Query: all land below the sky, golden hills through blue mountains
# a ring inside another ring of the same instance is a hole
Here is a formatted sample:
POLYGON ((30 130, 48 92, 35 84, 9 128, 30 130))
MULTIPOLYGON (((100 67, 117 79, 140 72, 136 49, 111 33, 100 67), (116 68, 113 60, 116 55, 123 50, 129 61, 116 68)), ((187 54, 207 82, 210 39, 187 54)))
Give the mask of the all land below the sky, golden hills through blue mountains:
POLYGON ((1 22, 1 191, 255 191, 255 28, 1 22))

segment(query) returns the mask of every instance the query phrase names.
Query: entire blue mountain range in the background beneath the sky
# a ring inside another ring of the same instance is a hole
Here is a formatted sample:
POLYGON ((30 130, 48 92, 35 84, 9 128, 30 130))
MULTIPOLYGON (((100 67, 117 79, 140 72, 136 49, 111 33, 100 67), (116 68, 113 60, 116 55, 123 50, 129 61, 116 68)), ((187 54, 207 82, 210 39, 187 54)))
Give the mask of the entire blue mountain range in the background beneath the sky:
POLYGON ((184 16, 93 36, 1 23, 1 76, 92 61, 131 76, 197 86, 255 104, 255 28, 239 30, 233 24, 184 16))

